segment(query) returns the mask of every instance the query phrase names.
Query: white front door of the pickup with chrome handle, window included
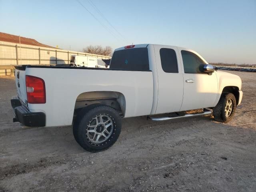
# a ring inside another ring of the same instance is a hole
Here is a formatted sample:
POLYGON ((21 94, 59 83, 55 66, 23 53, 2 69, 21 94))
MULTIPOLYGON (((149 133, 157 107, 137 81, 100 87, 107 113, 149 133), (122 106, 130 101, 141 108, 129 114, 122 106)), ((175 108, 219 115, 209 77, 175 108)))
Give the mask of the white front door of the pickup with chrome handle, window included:
POLYGON ((179 48, 184 76, 181 111, 214 107, 218 92, 216 73, 203 72, 207 62, 196 52, 179 48))

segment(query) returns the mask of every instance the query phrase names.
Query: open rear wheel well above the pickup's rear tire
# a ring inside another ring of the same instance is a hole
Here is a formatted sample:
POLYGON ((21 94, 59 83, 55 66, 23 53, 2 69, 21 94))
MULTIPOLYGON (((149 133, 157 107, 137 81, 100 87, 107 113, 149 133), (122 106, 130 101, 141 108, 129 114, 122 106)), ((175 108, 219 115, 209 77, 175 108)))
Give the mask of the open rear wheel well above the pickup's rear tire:
POLYGON ((75 103, 74 116, 84 108, 98 105, 110 106, 120 112, 121 116, 125 115, 126 101, 122 93, 114 91, 92 91, 78 95, 75 103))

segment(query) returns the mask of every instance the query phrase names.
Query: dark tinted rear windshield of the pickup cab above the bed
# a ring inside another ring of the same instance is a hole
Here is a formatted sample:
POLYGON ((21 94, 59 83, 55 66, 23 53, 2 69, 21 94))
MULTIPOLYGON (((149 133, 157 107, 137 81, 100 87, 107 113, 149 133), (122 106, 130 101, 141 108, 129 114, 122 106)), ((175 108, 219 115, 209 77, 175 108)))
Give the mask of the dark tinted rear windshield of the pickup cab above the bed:
POLYGON ((110 69, 149 70, 148 48, 128 48, 115 51, 110 62, 110 69))

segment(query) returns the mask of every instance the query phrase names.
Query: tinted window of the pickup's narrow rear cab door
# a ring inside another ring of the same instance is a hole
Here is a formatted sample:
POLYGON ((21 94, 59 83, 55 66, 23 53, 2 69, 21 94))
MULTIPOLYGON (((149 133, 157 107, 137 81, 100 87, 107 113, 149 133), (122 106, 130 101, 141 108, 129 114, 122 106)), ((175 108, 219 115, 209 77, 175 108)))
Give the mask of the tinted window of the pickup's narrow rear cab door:
POLYGON ((162 69, 166 73, 178 73, 178 62, 176 52, 173 49, 161 48, 160 58, 162 69))

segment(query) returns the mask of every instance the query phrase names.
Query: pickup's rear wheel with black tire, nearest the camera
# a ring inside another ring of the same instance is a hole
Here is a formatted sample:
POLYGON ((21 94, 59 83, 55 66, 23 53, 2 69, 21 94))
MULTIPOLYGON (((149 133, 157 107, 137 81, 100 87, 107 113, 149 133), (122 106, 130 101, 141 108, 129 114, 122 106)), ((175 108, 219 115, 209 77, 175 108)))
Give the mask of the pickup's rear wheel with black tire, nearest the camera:
POLYGON ((73 125, 73 134, 76 142, 78 142, 82 148, 90 152, 99 152, 110 148, 116 142, 121 129, 122 120, 114 108, 110 106, 95 106, 94 108, 85 108, 78 114, 73 125), (92 123, 96 123, 96 118, 97 121, 99 120, 100 116, 102 123, 99 122, 98 126, 93 125, 94 128, 89 128, 89 126, 92 126, 92 123), (103 118, 108 120, 105 123, 109 122, 109 124, 111 124, 107 129, 103 123, 103 118), (88 132, 89 130, 94 132, 88 132), (108 132, 104 132, 104 130, 108 132), (93 140, 95 139, 95 136, 93 137, 94 134, 96 136, 100 135, 98 141, 93 140))

